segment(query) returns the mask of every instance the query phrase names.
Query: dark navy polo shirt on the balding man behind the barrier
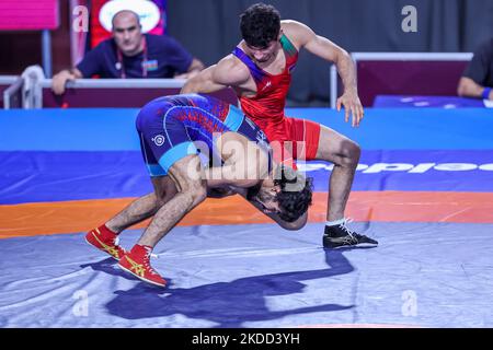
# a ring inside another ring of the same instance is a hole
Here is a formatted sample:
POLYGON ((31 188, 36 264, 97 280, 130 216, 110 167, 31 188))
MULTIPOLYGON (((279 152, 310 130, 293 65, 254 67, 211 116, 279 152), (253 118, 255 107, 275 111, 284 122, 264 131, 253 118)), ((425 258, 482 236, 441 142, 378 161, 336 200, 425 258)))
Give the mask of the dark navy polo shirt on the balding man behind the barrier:
MULTIPOLYGON (((133 57, 123 55, 126 78, 146 78, 142 63, 147 67, 147 78, 173 78, 175 73, 184 73, 188 70, 193 57, 179 42, 167 35, 145 34, 145 37, 146 62, 144 62, 145 52, 133 57)), ((100 43, 85 54, 77 68, 83 78, 91 78, 94 74, 100 78, 123 78, 115 40, 111 38, 100 43)))

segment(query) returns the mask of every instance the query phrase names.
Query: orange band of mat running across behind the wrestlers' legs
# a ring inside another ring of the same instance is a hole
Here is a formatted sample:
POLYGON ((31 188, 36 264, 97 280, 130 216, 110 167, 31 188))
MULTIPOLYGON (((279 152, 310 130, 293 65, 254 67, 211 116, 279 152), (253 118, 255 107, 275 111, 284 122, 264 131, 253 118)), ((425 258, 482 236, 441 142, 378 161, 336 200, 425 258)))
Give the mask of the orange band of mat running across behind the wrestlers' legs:
MULTIPOLYGON (((310 222, 323 222, 326 194, 313 194, 310 222)), ((88 231, 134 198, 0 206, 0 238, 88 231)), ((353 191, 346 215, 355 221, 493 223, 493 192, 353 191)), ((243 198, 207 199, 180 225, 268 223, 243 198)), ((135 228, 144 228, 144 222, 135 228)))

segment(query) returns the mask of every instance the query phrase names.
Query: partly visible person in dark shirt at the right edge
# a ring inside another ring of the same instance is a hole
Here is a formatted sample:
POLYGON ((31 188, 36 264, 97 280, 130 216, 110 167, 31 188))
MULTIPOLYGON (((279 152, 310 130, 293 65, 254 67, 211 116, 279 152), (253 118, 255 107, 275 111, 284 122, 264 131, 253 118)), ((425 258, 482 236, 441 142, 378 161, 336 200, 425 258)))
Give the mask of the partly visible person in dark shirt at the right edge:
POLYGON ((493 100, 493 38, 483 43, 460 78, 457 94, 493 100))

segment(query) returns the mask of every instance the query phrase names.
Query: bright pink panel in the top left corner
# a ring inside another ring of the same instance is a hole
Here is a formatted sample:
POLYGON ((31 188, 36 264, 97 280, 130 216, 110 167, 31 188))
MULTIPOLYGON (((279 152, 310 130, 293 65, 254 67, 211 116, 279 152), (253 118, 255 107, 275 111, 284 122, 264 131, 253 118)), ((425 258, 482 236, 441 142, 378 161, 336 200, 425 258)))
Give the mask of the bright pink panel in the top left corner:
POLYGON ((1 0, 0 31, 56 30, 58 0, 1 0))

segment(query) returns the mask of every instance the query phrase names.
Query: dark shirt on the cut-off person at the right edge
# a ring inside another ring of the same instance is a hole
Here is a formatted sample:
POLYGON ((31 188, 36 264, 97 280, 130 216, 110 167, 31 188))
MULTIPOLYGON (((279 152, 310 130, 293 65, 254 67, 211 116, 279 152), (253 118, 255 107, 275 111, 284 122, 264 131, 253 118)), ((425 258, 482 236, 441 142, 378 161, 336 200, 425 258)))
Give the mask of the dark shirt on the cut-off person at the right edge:
POLYGON ((474 51, 462 75, 472 79, 481 86, 493 88, 493 38, 474 51))

